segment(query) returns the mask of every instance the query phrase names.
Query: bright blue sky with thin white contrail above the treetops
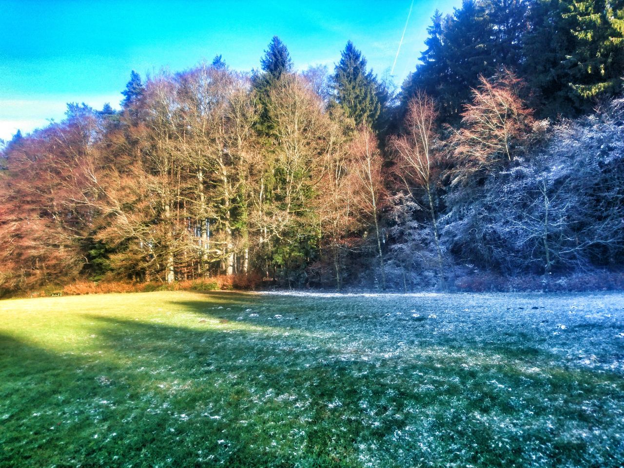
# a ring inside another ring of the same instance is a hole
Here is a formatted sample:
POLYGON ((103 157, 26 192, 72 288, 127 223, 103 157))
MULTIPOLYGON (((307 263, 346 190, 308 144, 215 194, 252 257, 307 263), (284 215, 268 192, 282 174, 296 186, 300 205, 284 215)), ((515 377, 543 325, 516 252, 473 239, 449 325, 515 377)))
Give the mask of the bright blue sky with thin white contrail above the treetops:
MULTIPOLYGON (((85 1, 0 0, 0 139, 62 119, 65 103, 119 107, 136 70, 144 77, 222 54, 233 68, 258 67, 273 35, 295 67, 338 61, 348 39, 369 66, 389 73, 411 0, 85 1)), ((414 0, 394 70, 400 84, 424 48, 433 12, 461 0, 414 0)))

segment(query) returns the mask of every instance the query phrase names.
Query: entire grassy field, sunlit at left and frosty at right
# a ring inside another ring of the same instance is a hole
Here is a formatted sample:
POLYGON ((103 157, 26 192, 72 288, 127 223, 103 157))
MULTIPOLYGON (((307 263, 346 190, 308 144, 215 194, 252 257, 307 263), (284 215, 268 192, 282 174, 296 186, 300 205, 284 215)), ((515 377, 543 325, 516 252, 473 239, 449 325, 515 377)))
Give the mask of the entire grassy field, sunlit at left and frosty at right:
POLYGON ((620 294, 0 301, 0 466, 620 467, 623 336, 620 294))

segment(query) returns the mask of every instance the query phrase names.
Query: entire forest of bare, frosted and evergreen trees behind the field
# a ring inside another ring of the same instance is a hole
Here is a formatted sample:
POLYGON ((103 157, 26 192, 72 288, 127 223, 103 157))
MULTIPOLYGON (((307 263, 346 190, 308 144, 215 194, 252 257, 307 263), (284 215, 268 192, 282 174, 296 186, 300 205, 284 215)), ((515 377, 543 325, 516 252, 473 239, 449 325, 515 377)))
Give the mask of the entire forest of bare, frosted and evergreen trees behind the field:
POLYGON ((400 86, 350 41, 297 71, 273 37, 251 72, 132 71, 120 110, 18 132, 0 295, 624 288, 624 0, 465 0, 427 33, 400 86))

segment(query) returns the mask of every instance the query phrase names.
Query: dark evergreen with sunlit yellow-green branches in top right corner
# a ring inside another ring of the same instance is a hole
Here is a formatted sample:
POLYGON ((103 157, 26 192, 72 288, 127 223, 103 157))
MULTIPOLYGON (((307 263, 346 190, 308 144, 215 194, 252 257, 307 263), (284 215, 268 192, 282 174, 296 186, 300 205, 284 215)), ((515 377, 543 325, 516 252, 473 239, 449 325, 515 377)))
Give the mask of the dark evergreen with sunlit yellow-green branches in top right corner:
POLYGON ((624 75, 622 0, 535 0, 524 41, 527 82, 542 117, 585 112, 618 94, 624 75))

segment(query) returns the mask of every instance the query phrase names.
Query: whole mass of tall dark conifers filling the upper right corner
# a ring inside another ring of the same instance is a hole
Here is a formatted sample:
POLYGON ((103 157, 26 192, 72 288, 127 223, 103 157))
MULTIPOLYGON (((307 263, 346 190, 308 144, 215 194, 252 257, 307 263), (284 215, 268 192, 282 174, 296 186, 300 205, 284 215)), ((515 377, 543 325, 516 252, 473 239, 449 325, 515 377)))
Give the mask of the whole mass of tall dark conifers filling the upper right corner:
POLYGON ((465 0, 432 18, 402 107, 424 90, 442 122, 459 124, 479 76, 507 68, 525 79, 540 117, 587 112, 622 92, 623 20, 621 0, 465 0))

